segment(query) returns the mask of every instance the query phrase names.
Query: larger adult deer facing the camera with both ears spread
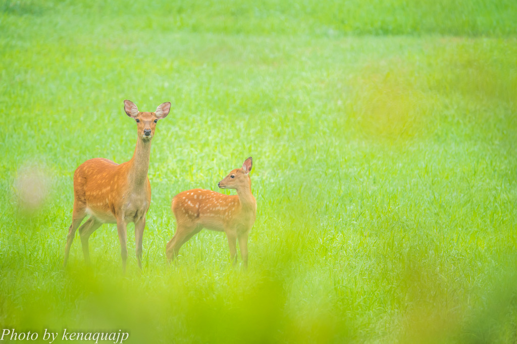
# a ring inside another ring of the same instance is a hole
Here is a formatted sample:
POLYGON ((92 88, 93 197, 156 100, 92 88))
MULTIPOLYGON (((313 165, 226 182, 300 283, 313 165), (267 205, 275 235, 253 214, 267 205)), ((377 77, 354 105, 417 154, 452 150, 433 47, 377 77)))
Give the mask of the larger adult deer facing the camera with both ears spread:
POLYGON ((68 228, 65 248, 66 267, 70 246, 75 231, 83 219, 90 217, 79 227, 79 235, 86 263, 89 264, 88 238, 103 223, 116 223, 122 267, 126 271, 127 230, 126 226, 134 222, 136 258, 142 269, 142 236, 145 227, 145 215, 151 201, 151 186, 147 178, 151 139, 155 135, 158 120, 165 118, 171 109, 171 103, 158 106, 156 112, 139 112, 132 102, 124 101, 124 110, 133 118, 138 129, 136 148, 131 160, 115 163, 108 159, 95 158, 83 162, 73 175, 73 212, 72 224, 68 228))

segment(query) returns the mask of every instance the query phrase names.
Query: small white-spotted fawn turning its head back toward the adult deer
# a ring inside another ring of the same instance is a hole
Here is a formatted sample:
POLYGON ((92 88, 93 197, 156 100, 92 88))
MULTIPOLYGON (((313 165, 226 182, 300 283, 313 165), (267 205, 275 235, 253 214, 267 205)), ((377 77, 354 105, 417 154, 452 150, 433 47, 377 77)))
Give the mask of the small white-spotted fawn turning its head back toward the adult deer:
POLYGON ((166 257, 171 261, 179 248, 203 228, 226 234, 230 256, 236 263, 236 240, 244 266, 248 266, 248 234, 255 222, 256 201, 251 193, 249 157, 242 168, 235 169, 217 185, 221 189, 236 189, 237 195, 226 195, 203 189, 183 191, 174 196, 171 209, 176 218, 176 233, 166 245, 166 257))

